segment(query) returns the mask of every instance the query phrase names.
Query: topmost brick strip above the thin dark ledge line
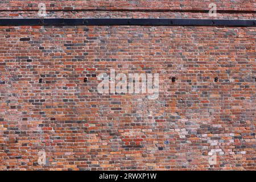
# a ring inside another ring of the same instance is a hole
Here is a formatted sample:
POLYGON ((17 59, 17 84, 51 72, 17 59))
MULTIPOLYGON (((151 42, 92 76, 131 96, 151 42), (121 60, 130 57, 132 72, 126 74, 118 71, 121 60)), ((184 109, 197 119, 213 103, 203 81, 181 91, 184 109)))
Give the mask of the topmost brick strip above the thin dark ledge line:
POLYGON ((81 10, 81 9, 155 9, 155 10, 202 10, 207 9, 209 3, 216 3, 220 10, 254 10, 255 0, 221 0, 221 1, 207 1, 207 0, 140 0, 140 1, 123 1, 123 0, 89 0, 89 1, 24 1, 24 0, 2 0, 1 10, 33 10, 37 9, 38 3, 46 3, 50 10, 81 10))

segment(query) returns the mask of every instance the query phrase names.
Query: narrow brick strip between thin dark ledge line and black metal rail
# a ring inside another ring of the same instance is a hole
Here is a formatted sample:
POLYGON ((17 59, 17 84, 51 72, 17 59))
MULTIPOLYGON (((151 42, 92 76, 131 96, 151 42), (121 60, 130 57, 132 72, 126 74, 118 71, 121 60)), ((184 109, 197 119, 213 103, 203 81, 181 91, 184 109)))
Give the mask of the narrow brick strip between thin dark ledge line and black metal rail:
MULTIPOLYGON (((0 18, 42 18, 35 11, 8 11, 0 14, 0 18)), ((255 13, 217 13, 214 19, 255 19, 255 13)), ((129 11, 81 11, 81 12, 57 12, 47 13, 46 18, 195 18, 209 19, 206 13, 184 13, 184 12, 129 12, 129 11)))

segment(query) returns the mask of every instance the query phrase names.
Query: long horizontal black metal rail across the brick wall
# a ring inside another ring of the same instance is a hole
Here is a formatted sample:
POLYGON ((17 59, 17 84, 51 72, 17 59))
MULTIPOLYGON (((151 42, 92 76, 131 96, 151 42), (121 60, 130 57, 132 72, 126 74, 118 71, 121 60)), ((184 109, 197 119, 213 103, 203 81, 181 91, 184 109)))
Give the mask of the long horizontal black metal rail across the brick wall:
POLYGON ((228 26, 255 27, 256 20, 163 19, 163 18, 86 18, 86 19, 0 19, 0 26, 228 26))

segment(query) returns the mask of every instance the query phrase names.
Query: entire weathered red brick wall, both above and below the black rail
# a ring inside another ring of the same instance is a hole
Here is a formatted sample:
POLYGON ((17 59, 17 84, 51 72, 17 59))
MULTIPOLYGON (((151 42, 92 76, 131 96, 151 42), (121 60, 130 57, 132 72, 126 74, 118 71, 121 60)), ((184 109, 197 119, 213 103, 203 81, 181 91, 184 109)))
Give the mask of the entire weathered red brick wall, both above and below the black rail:
MULTIPOLYGON (((209 3, 165 2, 60 1, 52 9, 205 9, 209 3)), ((220 7, 255 10, 255 2, 240 2, 220 7)), ((38 18, 13 11, 35 1, 2 3, 10 9, 2 17, 38 18)), ((217 18, 233 16, 255 14, 217 18)), ((255 170, 255 59, 255 27, 0 27, 0 169, 255 170), (110 69, 159 73, 159 98, 98 93, 97 76, 110 69), (38 164, 39 151, 46 152, 47 165, 38 164), (217 163, 210 165, 213 151, 217 163)))

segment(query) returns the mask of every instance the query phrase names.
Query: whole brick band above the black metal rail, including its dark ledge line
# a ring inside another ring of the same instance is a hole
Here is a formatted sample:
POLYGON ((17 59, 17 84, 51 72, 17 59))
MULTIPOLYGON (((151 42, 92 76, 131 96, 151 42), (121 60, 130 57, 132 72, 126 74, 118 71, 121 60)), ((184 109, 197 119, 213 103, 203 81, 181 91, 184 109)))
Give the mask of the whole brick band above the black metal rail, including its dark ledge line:
MULTIPOLYGON (((46 18, 209 18, 210 1, 0 1, 0 18, 42 18, 39 3, 46 4, 46 18)), ((215 19, 255 19, 255 1, 213 2, 215 19)))

